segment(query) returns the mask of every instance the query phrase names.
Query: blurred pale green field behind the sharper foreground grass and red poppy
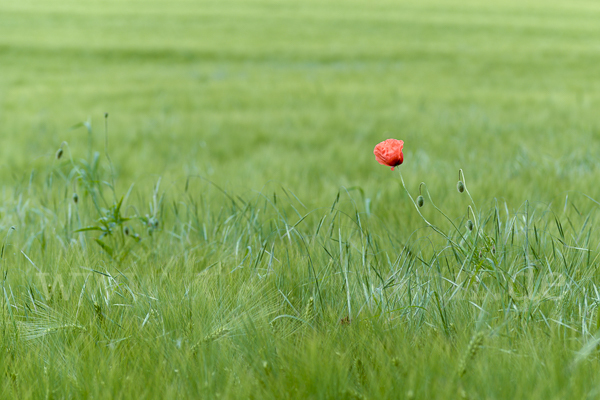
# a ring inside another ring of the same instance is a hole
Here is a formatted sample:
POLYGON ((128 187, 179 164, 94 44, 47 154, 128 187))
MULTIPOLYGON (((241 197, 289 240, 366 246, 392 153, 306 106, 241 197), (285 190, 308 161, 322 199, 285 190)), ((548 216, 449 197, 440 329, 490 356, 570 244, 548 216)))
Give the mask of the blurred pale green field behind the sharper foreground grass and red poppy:
MULTIPOLYGON (((588 0, 0 0, 0 179, 66 141, 118 181, 285 187, 307 205, 401 193, 373 147, 444 204, 600 196, 600 3, 588 0)), ((562 199, 562 200, 560 200, 562 199)))

